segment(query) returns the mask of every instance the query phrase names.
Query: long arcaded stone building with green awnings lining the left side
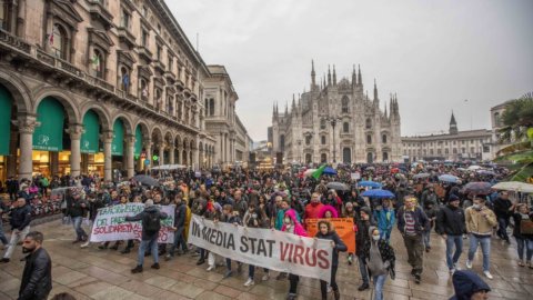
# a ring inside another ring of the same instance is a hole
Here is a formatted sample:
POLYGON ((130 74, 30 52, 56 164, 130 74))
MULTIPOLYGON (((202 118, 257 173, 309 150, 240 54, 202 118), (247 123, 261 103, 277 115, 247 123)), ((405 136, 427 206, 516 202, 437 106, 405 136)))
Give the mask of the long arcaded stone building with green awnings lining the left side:
POLYGON ((234 93, 218 82, 228 73, 212 72, 163 0, 3 1, 0 53, 0 180, 248 158, 237 98, 221 97, 234 93), (222 140, 208 131, 219 121, 222 140))

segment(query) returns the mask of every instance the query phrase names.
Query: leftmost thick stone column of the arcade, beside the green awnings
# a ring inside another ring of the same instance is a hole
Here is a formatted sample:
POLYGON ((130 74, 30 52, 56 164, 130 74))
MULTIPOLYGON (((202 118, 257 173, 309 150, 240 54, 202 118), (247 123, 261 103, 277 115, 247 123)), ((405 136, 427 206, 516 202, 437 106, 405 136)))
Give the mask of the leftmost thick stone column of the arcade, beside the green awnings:
POLYGON ((19 180, 31 179, 33 172, 33 131, 40 123, 34 117, 19 117, 17 124, 20 134, 19 180))

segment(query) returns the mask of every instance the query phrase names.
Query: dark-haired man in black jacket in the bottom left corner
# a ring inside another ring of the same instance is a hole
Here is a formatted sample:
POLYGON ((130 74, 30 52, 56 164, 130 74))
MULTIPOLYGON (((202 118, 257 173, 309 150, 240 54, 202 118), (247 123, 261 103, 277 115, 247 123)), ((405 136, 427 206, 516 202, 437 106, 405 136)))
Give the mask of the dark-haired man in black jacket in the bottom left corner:
POLYGON ((29 254, 24 258, 19 300, 46 300, 52 290, 52 261, 42 248, 43 240, 41 232, 31 231, 22 242, 22 253, 29 254))

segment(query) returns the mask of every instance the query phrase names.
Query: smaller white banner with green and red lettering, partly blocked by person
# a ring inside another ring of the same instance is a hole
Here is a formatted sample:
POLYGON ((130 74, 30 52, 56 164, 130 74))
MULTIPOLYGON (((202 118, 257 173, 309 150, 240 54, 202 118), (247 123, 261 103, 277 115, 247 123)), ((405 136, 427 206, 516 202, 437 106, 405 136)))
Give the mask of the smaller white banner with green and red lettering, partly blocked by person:
MULTIPOLYGON (((159 243, 173 243, 174 233, 169 228, 174 226, 174 206, 160 207, 169 217, 161 220, 159 243)), ((107 207, 98 210, 92 224, 91 242, 140 240, 142 238, 142 221, 127 222, 127 216, 133 217, 144 210, 143 203, 127 203, 107 207)))

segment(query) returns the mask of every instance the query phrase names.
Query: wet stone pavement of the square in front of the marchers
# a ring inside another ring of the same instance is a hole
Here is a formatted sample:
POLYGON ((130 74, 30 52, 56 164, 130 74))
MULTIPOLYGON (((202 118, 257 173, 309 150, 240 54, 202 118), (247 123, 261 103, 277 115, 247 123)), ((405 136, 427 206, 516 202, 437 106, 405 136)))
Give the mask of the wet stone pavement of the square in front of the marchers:
MULTIPOLYGON (((197 258, 190 254, 172 261, 161 259, 161 269, 148 268, 152 260, 147 258, 144 272, 132 274, 135 266, 137 247, 129 254, 113 250, 99 250, 97 246, 80 249, 72 244, 73 229, 52 221, 33 227, 44 233, 44 248, 52 257, 52 294, 70 292, 77 299, 284 299, 289 290, 288 280, 274 279, 261 282, 262 270, 258 269, 255 286, 244 287, 248 268, 229 279, 223 279, 224 267, 205 271, 207 264, 195 266, 197 258)), ((422 283, 415 284, 406 263, 405 248, 400 234, 393 233, 396 250, 396 279, 386 280, 385 299, 449 299, 453 294, 451 277, 444 258, 444 242, 432 234, 433 249, 424 258, 422 283)), ((467 243, 467 240, 465 240, 467 243)), ((121 246, 122 248, 123 246, 121 246)), ((464 247, 467 248, 467 247, 464 247)), ((464 268, 466 249, 460 266, 464 268)), ((474 260, 474 270, 481 273, 481 249, 474 260)), ((22 276, 21 249, 16 250, 11 262, 0 264, 0 299, 16 299, 22 276)), ((533 270, 517 267, 515 244, 506 246, 497 239, 492 243, 493 280, 490 299, 533 299, 533 270)), ((338 272, 341 299, 372 299, 372 289, 359 292, 361 277, 356 263, 349 266, 346 254, 341 254, 338 272)), ((320 299, 318 280, 302 278, 299 286, 300 299, 320 299)), ((333 294, 330 294, 333 299, 333 294)))

